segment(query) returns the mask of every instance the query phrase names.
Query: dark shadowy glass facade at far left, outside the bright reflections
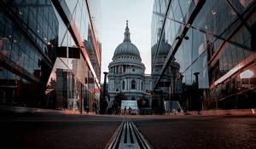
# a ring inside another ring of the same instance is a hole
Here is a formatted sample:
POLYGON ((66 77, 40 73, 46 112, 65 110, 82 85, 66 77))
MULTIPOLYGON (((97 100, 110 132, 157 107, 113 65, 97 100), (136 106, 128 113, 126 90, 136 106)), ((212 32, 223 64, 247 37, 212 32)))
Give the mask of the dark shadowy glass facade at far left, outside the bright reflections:
POLYGON ((58 26, 49 1, 1 1, 0 105, 43 105, 58 26))

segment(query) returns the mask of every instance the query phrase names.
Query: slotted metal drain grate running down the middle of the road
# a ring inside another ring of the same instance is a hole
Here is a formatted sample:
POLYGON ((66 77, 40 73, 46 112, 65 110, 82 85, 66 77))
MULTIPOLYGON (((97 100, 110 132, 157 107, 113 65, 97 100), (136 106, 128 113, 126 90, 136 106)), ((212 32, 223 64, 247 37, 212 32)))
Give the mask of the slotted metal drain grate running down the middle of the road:
POLYGON ((150 148, 143 135, 138 131, 131 120, 124 120, 115 133, 108 149, 123 148, 150 148))

